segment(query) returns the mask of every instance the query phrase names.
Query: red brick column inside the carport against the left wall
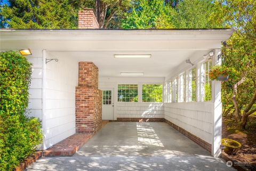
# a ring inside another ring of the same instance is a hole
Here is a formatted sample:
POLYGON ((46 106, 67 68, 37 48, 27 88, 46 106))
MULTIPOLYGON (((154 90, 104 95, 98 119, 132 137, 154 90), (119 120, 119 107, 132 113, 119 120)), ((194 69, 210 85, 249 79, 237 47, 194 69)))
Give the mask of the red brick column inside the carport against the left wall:
POLYGON ((78 63, 76 87, 76 132, 97 132, 102 121, 102 91, 98 89, 98 68, 93 62, 78 63))

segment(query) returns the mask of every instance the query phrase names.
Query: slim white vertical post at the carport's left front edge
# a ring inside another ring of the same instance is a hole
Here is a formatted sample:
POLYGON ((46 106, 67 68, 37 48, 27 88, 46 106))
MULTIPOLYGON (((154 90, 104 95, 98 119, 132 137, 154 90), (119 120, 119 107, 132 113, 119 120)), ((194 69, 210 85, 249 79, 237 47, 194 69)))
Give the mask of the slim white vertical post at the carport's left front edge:
POLYGON ((43 143, 42 150, 45 150, 45 135, 46 135, 46 50, 42 51, 42 131, 43 131, 43 143))

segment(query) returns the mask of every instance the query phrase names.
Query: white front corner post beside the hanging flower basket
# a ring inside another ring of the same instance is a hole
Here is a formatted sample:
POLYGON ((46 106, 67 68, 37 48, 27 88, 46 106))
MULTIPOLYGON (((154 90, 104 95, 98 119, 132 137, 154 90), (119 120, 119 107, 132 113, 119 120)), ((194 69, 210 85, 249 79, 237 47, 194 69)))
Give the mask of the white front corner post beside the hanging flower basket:
MULTIPOLYGON (((212 65, 221 64, 221 59, 218 60, 221 50, 214 50, 212 65)), ((212 136, 212 156, 219 157, 221 154, 221 124, 222 124, 222 103, 221 103, 221 82, 214 80, 212 82, 212 100, 213 107, 213 136, 212 136)))

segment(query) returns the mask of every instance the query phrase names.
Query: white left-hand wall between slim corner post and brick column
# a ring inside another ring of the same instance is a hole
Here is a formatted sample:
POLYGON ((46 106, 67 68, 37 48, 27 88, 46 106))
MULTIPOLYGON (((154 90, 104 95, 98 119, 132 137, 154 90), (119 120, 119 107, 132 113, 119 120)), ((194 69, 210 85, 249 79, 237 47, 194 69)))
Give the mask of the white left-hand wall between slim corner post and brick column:
POLYGON ((46 148, 75 133, 78 62, 61 56, 58 59, 46 64, 46 148))

